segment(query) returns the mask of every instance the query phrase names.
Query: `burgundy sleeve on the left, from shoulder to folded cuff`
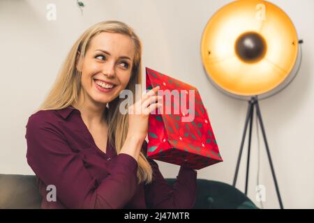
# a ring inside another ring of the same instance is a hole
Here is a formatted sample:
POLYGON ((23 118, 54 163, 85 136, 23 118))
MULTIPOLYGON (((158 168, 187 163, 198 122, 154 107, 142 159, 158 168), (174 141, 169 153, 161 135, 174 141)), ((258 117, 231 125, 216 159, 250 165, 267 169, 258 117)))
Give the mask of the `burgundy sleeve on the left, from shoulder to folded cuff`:
POLYGON ((34 114, 27 123, 27 162, 36 176, 56 187, 57 198, 67 208, 123 208, 137 187, 136 160, 119 154, 111 174, 98 182, 48 120, 34 114))

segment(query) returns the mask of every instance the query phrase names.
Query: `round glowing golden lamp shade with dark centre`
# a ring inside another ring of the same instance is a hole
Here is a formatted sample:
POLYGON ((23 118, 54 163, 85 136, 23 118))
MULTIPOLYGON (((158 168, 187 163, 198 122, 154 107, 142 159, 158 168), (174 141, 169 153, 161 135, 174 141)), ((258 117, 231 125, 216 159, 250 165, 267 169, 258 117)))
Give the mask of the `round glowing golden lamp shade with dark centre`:
POLYGON ((267 1, 227 4, 211 17, 202 34, 207 75, 234 95, 261 95, 276 89, 292 72, 298 50, 290 18, 267 1))

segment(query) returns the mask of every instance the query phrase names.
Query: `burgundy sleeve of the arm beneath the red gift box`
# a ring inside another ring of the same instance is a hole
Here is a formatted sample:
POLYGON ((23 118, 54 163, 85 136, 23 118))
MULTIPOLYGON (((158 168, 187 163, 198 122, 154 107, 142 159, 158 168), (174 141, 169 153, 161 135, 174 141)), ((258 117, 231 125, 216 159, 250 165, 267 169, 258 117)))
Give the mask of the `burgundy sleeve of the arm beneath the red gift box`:
MULTIPOLYGON (((144 144, 147 147, 146 141, 144 144)), ((148 208, 193 208, 196 199, 197 172, 190 168, 180 167, 177 180, 171 187, 160 173, 158 164, 151 159, 149 162, 153 169, 153 180, 144 187, 148 208)))

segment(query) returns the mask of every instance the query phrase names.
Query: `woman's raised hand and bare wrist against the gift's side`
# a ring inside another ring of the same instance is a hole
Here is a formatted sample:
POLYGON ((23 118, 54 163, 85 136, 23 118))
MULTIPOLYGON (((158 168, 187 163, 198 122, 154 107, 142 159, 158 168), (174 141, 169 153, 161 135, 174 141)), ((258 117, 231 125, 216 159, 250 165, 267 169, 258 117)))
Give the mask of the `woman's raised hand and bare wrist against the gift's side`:
POLYGON ((156 108, 163 107, 163 104, 160 103, 163 97, 156 95, 158 89, 159 86, 156 86, 128 107, 128 134, 120 153, 127 153, 135 160, 138 160, 142 143, 147 136, 149 114, 156 108))

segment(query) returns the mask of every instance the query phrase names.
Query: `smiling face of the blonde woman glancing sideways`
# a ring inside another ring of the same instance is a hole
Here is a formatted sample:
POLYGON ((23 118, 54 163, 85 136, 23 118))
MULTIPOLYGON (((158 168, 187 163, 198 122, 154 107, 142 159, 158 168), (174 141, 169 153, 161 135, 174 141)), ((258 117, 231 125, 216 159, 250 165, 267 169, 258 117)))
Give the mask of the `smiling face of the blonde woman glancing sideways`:
POLYGON ((106 105, 117 98, 128 85, 134 56, 135 47, 128 36, 107 32, 94 36, 84 59, 77 63, 85 100, 106 105))

